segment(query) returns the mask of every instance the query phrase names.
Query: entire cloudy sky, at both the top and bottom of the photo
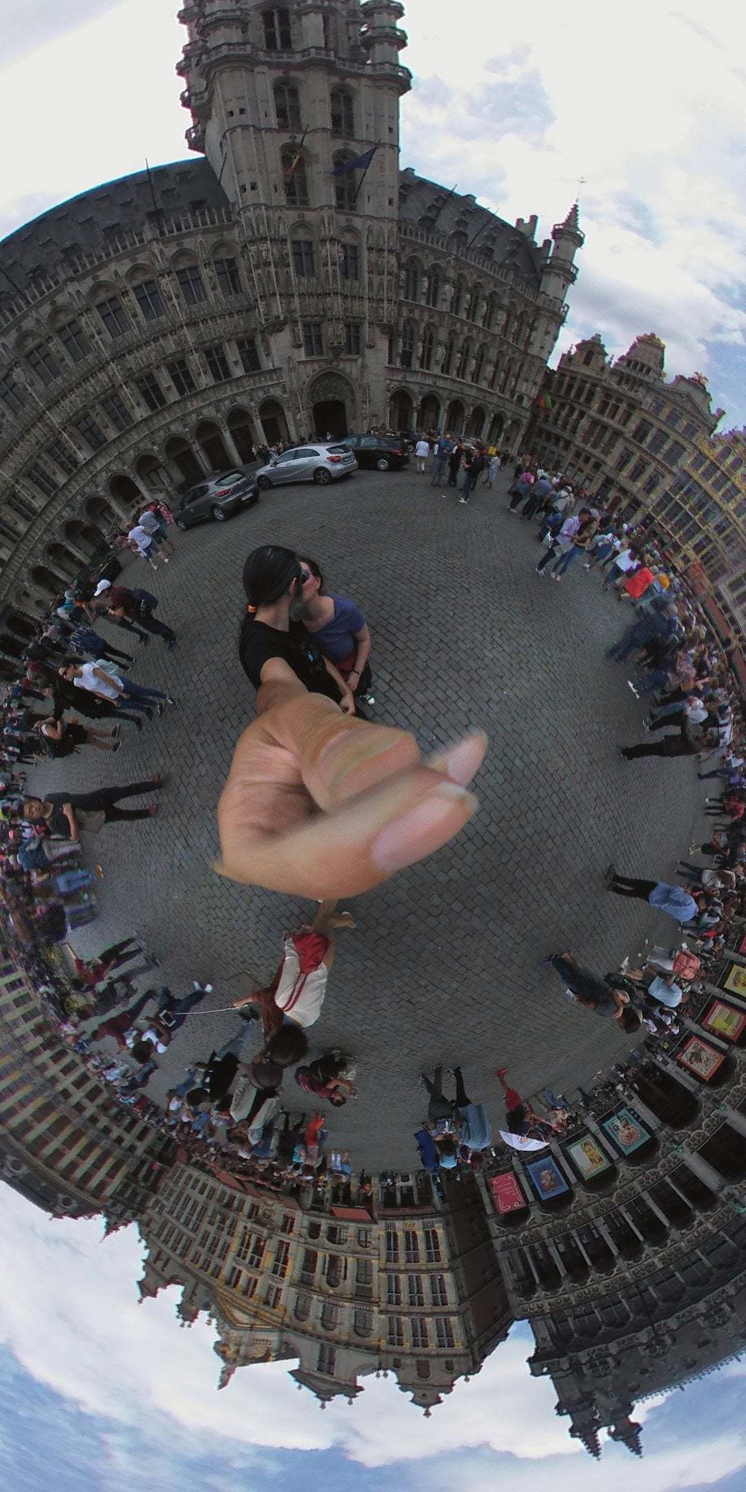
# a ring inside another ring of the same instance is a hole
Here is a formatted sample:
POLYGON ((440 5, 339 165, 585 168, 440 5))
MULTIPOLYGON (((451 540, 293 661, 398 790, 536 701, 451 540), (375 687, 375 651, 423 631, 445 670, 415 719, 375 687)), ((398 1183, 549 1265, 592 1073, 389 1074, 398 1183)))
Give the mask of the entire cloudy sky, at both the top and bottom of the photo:
MULTIPOLYGON (((186 155, 178 0, 0 0, 0 236, 101 181, 186 155)), ((579 192, 586 243, 558 352, 600 330, 667 343, 743 424, 746 10, 694 0, 409 0, 401 164, 539 239, 579 192), (579 185, 579 179, 585 178, 579 185)), ((743 1492, 742 1365, 645 1405, 646 1455, 601 1470, 530 1377, 518 1326, 425 1420, 392 1380, 319 1411, 288 1365, 215 1392, 212 1331, 181 1331, 176 1292, 137 1304, 136 1229, 49 1222, 3 1189, 0 1471, 15 1492, 743 1492), (166 1453, 164 1453, 166 1449, 166 1453), (313 1461, 309 1462, 309 1455, 313 1461), (10 1468, 15 1468, 10 1474, 10 1468)))

